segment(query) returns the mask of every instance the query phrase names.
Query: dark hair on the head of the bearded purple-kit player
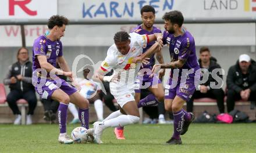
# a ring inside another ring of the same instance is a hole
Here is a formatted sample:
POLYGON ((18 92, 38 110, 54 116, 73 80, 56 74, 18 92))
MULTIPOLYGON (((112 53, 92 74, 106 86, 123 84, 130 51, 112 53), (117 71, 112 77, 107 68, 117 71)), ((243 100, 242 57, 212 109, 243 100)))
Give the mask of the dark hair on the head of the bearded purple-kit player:
POLYGON ((172 10, 170 12, 166 12, 163 15, 162 19, 169 20, 172 24, 178 24, 179 27, 182 27, 182 24, 184 22, 182 12, 180 12, 179 10, 172 10))

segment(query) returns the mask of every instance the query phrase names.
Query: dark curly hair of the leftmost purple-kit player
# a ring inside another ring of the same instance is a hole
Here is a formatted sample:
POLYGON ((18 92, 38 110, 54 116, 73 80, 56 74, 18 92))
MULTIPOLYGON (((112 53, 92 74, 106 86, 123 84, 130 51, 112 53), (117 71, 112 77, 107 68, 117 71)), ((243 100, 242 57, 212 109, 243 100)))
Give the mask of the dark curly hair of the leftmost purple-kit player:
POLYGON ((68 25, 69 19, 67 19, 65 16, 59 15, 51 16, 47 23, 49 29, 54 28, 55 25, 62 27, 63 24, 68 25))

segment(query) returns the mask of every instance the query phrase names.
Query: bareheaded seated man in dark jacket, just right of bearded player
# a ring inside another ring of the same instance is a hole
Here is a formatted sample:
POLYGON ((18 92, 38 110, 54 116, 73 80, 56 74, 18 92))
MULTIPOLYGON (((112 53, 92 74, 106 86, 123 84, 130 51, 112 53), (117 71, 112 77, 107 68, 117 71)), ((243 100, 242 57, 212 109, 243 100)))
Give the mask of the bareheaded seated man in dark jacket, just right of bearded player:
MULTIPOLYGON (((208 70, 209 77, 205 83, 202 83, 198 86, 198 88, 200 90, 195 90, 190 101, 187 101, 187 111, 193 112, 193 100, 194 99, 209 97, 211 99, 217 100, 219 112, 223 113, 225 111, 224 91, 222 88, 213 89, 210 85, 210 82, 215 82, 215 85, 217 85, 219 83, 216 81, 215 77, 213 77, 212 71, 216 70, 216 68, 221 68, 221 66, 217 63, 217 60, 214 57, 211 57, 210 50, 207 47, 202 47, 200 49, 200 59, 198 60, 198 63, 200 64, 200 68, 204 68, 204 70, 206 70, 206 69, 208 70)), ((219 78, 223 79, 223 75, 220 75, 218 72, 217 72, 217 75, 219 78)))

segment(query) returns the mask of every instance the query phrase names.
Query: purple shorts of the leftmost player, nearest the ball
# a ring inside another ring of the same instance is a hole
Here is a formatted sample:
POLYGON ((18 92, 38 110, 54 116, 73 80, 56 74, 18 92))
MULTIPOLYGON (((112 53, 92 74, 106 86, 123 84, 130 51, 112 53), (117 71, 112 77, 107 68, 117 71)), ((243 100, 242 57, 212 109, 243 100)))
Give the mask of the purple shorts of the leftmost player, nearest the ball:
POLYGON ((40 95, 41 99, 51 99, 52 93, 54 93, 56 89, 61 89, 68 95, 77 92, 76 88, 74 88, 72 85, 69 85, 69 83, 60 78, 56 80, 41 80, 40 78, 38 78, 37 84, 35 85, 35 90, 40 95), (42 82, 40 83, 40 81, 42 82))

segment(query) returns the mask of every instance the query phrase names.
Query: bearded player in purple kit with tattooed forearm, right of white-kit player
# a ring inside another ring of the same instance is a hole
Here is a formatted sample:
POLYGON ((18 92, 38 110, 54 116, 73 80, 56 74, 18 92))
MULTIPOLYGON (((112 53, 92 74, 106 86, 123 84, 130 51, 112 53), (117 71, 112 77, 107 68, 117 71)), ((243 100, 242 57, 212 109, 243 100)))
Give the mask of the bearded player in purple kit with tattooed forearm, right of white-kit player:
POLYGON ((174 133, 166 144, 182 144, 180 135, 187 132, 190 123, 194 120, 194 115, 184 111, 182 107, 194 93, 201 71, 195 54, 194 38, 190 32, 182 28, 184 21, 182 13, 173 10, 165 13, 162 19, 165 20, 162 43, 169 46, 172 61, 166 64, 155 64, 152 72, 155 73, 161 68, 172 69, 169 82, 165 86, 165 110, 173 112, 174 133))

